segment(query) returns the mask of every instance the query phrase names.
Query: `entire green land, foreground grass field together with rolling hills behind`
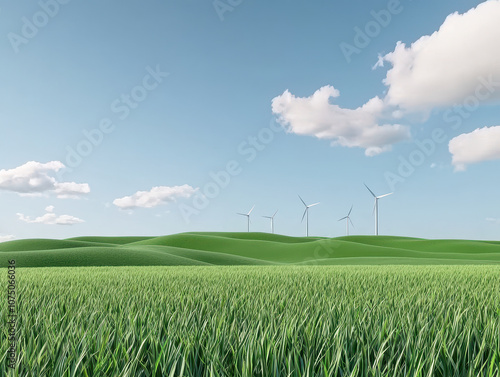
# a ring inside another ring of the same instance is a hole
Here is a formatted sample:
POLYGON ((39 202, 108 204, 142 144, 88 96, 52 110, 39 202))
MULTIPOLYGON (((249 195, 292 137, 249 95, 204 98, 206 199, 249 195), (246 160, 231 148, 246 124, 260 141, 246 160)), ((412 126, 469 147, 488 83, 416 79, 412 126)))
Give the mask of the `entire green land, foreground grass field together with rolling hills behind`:
POLYGON ((500 376, 500 242, 184 233, 0 254, 19 316, 2 376, 500 376))

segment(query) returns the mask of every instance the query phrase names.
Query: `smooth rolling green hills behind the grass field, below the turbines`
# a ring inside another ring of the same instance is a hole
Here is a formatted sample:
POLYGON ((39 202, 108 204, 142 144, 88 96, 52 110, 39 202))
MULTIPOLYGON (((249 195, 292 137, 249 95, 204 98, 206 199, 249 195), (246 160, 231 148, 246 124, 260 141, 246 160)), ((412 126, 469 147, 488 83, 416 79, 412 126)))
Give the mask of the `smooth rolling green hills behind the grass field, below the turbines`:
POLYGON ((0 243, 0 266, 196 266, 500 264, 500 242, 389 236, 288 237, 268 233, 181 233, 0 243))

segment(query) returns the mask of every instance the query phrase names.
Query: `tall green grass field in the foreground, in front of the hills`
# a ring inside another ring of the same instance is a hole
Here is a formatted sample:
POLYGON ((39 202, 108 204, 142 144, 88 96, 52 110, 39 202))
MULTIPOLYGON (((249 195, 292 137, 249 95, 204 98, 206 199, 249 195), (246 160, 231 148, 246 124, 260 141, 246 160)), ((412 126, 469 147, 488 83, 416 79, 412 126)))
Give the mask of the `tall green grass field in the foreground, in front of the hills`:
MULTIPOLYGON (((500 375, 498 266, 33 268, 17 278, 19 376, 500 375)), ((6 350, 4 336, 2 375, 6 350)))

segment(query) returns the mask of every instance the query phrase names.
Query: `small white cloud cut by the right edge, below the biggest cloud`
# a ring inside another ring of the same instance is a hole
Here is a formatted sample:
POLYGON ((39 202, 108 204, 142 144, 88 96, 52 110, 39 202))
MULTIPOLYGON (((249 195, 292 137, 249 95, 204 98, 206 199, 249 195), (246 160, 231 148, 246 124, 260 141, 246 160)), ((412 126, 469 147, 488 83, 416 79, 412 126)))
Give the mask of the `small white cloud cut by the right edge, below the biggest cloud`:
POLYGON ((452 154, 455 170, 480 161, 500 159, 500 126, 478 128, 450 140, 448 149, 452 154))

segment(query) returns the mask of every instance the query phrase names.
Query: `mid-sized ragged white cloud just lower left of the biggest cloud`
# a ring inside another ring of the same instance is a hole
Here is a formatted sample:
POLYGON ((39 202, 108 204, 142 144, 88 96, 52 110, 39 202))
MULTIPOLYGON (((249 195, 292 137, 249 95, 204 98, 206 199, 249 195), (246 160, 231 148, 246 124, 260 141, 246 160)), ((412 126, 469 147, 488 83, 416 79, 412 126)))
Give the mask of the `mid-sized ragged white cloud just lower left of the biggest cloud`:
POLYGON ((380 98, 372 98, 353 110, 331 103, 339 95, 333 86, 324 86, 305 98, 286 90, 273 99, 272 111, 289 132, 330 139, 334 145, 364 148, 367 156, 388 151, 392 144, 410 138, 406 126, 377 124, 384 112, 380 98))

